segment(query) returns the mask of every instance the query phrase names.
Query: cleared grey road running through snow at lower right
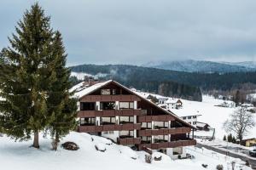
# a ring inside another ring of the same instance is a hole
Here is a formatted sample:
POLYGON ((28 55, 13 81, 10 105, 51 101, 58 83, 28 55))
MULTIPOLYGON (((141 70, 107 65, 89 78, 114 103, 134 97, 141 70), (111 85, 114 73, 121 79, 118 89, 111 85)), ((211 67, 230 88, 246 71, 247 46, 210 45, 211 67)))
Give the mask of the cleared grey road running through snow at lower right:
MULTIPOLYGON (((198 148, 204 147, 204 148, 207 148, 207 150, 216 151, 216 152, 218 152, 220 154, 224 154, 224 155, 227 154, 226 150, 220 150, 220 149, 218 149, 216 147, 205 145, 205 144, 197 143, 195 147, 198 147, 198 148)), ((253 159, 250 156, 241 156, 241 155, 233 153, 233 152, 229 152, 229 156, 235 157, 235 158, 240 158, 242 161, 249 161, 249 163, 252 166, 252 168, 256 169, 256 159, 255 158, 253 159)))

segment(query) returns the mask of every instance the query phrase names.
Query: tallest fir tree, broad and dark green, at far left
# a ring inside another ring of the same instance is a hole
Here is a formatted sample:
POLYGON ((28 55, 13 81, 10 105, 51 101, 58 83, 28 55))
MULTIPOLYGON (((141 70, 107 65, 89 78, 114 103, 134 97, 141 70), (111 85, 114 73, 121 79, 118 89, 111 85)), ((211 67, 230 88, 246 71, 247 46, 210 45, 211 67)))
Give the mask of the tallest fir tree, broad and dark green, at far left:
MULTIPOLYGON (((39 148, 39 132, 61 117, 53 108, 65 111, 61 105, 69 101, 69 82, 65 81, 69 71, 64 68, 66 55, 63 55, 62 42, 57 40, 61 38, 60 33, 52 31, 49 17, 38 3, 26 10, 15 30, 16 35, 9 38, 10 47, 3 48, 0 54, 0 95, 4 99, 0 102, 3 113, 0 127, 3 133, 20 140, 30 139, 33 133, 32 146, 39 148), (59 76, 61 74, 66 76, 59 76), (55 88, 56 82, 64 82, 62 86, 66 88, 55 88), (64 91, 61 104, 52 104, 52 96, 61 94, 61 90, 64 91)), ((69 111, 72 116, 67 114, 72 123, 73 110, 69 111)))

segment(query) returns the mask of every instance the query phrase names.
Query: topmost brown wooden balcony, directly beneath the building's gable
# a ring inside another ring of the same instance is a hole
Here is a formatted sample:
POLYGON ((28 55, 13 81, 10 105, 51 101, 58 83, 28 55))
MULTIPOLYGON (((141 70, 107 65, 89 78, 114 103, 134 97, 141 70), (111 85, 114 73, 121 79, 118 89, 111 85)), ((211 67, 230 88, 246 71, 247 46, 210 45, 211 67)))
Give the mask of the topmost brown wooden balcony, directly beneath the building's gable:
POLYGON ((96 102, 96 101, 140 101, 136 95, 86 95, 80 102, 96 102))

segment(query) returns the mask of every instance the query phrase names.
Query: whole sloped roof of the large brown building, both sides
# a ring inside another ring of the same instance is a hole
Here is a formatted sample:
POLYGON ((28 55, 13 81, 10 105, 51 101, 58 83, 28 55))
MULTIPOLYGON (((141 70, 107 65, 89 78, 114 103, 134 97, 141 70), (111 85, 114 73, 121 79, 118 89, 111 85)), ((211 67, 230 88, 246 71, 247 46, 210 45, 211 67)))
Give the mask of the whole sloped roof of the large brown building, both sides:
MULTIPOLYGON (((88 94, 91 94, 92 92, 96 91, 97 89, 99 88, 102 88, 106 85, 108 85, 108 83, 110 82, 113 82, 114 84, 116 84, 117 86, 121 87, 121 88, 125 88, 125 90, 127 90, 128 92, 130 92, 131 94, 134 94, 136 95, 137 97, 139 97, 140 99, 143 99, 144 101, 148 102, 150 105, 154 105, 155 107, 157 107, 158 109, 160 109, 161 111, 164 111, 166 114, 169 114, 169 115, 172 115, 174 116, 177 121, 179 122, 183 122, 183 124, 186 124, 187 126, 191 127, 191 128, 194 128, 194 129, 197 129, 196 127, 194 127, 193 125, 189 124, 188 122, 185 122, 183 121, 180 117, 178 117, 177 115, 175 115, 174 113, 170 112, 170 111, 166 111, 165 109, 161 108, 160 106, 158 105, 155 105, 153 102, 149 101, 148 99, 145 99, 143 98, 143 96, 131 91, 130 88, 126 88, 125 86, 123 86, 122 84, 120 84, 119 82, 115 82, 113 80, 108 80, 106 82, 99 82, 99 83, 96 83, 95 85, 92 85, 88 88, 84 88, 84 89, 81 89, 79 92, 75 93, 74 95, 76 97, 78 97, 79 99, 84 97, 84 95, 88 95, 88 94)), ((78 85, 74 86, 76 88, 81 88, 81 86, 83 85, 83 83, 79 83, 78 85)), ((71 89, 75 89, 75 88, 71 88, 71 89)))

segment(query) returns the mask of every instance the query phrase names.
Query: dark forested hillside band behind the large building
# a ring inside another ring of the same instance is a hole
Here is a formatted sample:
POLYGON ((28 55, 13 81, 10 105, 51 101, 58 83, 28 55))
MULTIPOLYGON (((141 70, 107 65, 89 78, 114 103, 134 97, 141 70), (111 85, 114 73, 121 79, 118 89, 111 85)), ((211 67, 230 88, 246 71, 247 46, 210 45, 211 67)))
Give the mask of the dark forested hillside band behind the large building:
MULTIPOLYGON (((177 82, 201 88, 202 92, 210 90, 231 90, 242 84, 256 84, 256 71, 231 73, 201 73, 185 71, 168 71, 136 65, 76 65, 72 71, 108 74, 108 77, 129 81, 137 79, 142 82, 177 82), (134 77, 136 76, 136 77, 134 77)), ((135 80, 134 80, 135 81, 135 80)))

